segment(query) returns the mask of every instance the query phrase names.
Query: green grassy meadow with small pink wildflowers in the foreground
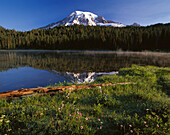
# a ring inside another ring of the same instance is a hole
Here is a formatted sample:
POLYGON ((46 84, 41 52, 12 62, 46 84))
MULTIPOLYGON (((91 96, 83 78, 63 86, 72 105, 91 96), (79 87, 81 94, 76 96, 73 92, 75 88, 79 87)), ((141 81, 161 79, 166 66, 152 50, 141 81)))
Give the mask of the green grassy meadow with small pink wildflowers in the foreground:
MULTIPOLYGON (((168 134, 170 68, 136 66, 93 83, 135 82, 0 100, 0 134, 168 134)), ((61 84, 67 85, 67 84, 61 84)))

